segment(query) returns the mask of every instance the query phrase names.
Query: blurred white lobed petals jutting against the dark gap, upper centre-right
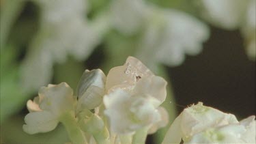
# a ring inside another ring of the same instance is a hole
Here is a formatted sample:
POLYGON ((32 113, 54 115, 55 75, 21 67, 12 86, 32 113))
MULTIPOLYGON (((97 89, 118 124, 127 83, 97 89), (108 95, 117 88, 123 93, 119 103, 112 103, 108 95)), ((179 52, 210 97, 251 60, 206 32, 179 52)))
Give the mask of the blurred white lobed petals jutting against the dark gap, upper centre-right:
POLYGON ((199 54, 202 43, 210 35, 208 26, 177 10, 165 10, 163 16, 166 26, 161 31, 156 59, 168 66, 177 66, 186 54, 199 54))

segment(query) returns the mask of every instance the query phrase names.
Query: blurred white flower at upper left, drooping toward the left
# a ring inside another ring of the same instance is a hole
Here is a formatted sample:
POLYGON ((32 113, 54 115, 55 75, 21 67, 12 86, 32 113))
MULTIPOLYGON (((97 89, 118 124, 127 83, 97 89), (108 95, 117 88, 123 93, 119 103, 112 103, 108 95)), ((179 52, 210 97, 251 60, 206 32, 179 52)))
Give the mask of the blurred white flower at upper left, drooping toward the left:
POLYGON ((55 62, 66 61, 68 55, 86 59, 100 42, 101 29, 87 22, 86 1, 38 1, 40 29, 31 42, 21 66, 25 89, 38 89, 49 82, 55 62), (38 70, 40 72, 35 72, 38 70))

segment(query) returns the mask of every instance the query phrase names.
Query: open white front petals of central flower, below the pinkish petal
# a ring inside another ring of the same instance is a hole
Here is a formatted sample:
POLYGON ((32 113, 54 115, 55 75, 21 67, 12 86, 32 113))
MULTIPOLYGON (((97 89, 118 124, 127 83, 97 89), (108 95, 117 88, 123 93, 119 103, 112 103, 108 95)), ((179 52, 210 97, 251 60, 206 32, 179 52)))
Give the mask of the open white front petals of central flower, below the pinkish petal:
POLYGON ((160 121, 160 114, 155 109, 154 101, 159 102, 150 96, 132 96, 122 89, 104 96, 104 113, 109 117, 111 130, 118 134, 132 134, 139 128, 160 121))

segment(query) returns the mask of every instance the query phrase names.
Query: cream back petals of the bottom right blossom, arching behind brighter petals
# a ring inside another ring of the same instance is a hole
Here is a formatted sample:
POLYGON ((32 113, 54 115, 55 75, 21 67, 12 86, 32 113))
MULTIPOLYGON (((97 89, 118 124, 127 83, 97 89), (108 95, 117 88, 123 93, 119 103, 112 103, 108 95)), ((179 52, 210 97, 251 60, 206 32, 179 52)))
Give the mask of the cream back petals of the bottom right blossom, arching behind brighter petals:
POLYGON ((231 124, 239 124, 235 115, 223 113, 217 109, 203 106, 201 102, 184 109, 184 111, 173 121, 163 143, 185 143, 192 137, 208 130, 231 124))

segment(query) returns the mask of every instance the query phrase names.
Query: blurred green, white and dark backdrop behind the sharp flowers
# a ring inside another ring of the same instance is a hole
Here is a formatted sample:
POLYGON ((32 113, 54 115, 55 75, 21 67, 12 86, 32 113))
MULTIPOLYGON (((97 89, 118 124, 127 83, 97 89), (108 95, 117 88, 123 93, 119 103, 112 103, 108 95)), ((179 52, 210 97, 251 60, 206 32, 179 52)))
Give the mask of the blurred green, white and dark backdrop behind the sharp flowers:
POLYGON ((167 79, 169 124, 197 102, 255 115, 255 0, 0 1, 1 143, 68 142, 61 124, 23 132, 27 100, 48 83, 75 90, 84 70, 107 74, 129 55, 167 79))

